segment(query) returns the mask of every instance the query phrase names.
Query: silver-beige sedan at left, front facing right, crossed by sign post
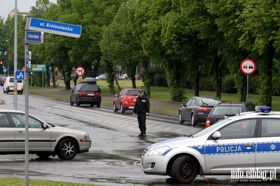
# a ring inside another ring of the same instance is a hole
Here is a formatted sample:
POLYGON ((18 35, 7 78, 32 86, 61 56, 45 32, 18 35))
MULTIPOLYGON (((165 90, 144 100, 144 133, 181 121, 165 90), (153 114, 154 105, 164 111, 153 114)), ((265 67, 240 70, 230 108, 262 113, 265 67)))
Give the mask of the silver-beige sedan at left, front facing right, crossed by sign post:
MULTIPOLYGON (((70 160, 91 147, 86 132, 49 125, 29 114, 29 153, 70 160)), ((0 109, 0 154, 25 153, 25 113, 0 109)))

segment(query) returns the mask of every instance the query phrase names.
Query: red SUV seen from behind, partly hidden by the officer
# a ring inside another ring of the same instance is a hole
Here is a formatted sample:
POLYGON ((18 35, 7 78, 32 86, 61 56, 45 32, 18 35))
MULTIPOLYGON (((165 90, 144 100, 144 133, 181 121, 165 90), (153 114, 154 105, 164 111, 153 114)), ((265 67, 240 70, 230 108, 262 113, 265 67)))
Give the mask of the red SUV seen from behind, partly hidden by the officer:
MULTIPOLYGON (((119 94, 115 95, 114 100, 114 112, 118 112, 120 109, 121 113, 124 113, 126 110, 133 110, 136 98, 139 96, 138 92, 143 89, 136 88, 123 88, 119 94)), ((144 95, 147 96, 144 91, 144 95)))

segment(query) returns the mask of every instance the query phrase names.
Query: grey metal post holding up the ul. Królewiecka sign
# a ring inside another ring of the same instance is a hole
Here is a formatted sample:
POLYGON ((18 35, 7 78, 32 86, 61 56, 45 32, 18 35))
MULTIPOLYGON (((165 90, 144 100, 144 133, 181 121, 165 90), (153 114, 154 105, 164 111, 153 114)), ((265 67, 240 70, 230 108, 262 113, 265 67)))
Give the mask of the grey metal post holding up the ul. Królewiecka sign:
MULTIPOLYGON (((25 24, 25 39, 26 39, 26 32, 28 31, 28 25, 30 21, 31 14, 28 13, 26 17, 26 24, 25 24)), ((25 52, 24 52, 24 64, 26 64, 26 52, 28 52, 28 44, 25 43, 25 52)), ((27 67, 27 65, 25 65, 27 67)), ((29 185, 29 167, 28 167, 28 161, 29 161, 29 122, 28 122, 28 88, 29 88, 29 81, 28 81, 28 70, 30 66, 28 65, 28 69, 25 68, 25 186, 29 185)))

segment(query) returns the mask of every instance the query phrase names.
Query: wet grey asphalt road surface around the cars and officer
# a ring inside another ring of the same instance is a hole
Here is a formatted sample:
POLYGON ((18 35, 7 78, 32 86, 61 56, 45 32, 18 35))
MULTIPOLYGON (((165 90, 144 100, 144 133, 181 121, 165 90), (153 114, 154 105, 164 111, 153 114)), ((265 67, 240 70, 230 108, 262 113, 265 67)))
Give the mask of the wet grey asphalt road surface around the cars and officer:
MULTIPOLYGON (((13 95, 0 93, 5 100, 0 108, 13 109, 13 95)), ((25 99, 18 95, 18 110, 24 111, 25 99)), ((29 179, 47 179, 98 185, 180 185, 168 176, 145 175, 140 158, 152 143, 193 134, 205 126, 179 125, 177 118, 150 114, 147 117, 147 137, 138 137, 137 117, 131 111, 113 113, 112 107, 70 106, 70 103, 41 96, 29 96, 29 113, 45 122, 86 131, 92 139, 90 152, 77 154, 70 160, 58 157, 40 159, 29 155, 29 179)), ((23 155, 0 155, 0 176, 24 178, 23 155)), ((279 185, 279 181, 235 182, 230 176, 198 176, 189 185, 279 185)))

